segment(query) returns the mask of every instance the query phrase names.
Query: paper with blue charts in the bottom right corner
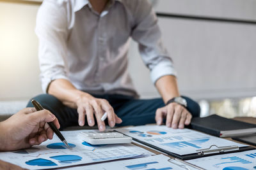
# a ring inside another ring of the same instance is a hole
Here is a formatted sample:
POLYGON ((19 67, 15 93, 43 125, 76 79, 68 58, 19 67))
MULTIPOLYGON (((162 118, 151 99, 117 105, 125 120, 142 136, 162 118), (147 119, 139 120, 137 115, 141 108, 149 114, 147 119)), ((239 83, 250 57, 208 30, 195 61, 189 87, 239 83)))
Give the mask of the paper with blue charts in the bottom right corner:
POLYGON ((204 169, 249 170, 256 169, 256 150, 215 155, 199 159, 186 160, 204 169))

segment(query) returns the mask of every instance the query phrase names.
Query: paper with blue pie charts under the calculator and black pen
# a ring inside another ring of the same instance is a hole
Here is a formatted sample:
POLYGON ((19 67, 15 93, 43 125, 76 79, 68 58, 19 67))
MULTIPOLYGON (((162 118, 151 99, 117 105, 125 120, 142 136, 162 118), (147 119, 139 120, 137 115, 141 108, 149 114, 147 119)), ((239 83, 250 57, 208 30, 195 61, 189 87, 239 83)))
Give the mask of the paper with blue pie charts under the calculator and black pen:
POLYGON ((131 143, 119 145, 90 145, 77 139, 79 132, 81 131, 61 132, 65 139, 67 139, 70 148, 66 148, 54 134, 52 140, 47 140, 41 145, 14 152, 0 152, 0 159, 28 169, 50 169, 106 160, 155 155, 131 143))

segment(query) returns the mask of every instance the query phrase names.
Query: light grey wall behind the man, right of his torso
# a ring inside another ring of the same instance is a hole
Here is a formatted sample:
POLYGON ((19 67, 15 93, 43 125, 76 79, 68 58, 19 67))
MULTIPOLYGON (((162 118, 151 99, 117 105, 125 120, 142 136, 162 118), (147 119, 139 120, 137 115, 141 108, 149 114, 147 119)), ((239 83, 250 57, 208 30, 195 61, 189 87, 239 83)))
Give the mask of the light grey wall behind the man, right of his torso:
MULTIPOLYGON (((160 0, 156 5, 156 11, 165 13, 256 20, 256 1, 160 0)), ((255 24, 160 17, 159 25, 178 71, 181 94, 194 99, 256 96, 255 24)), ((144 75, 148 71, 136 63, 142 64, 136 45, 130 57, 141 96, 158 96, 144 75)))

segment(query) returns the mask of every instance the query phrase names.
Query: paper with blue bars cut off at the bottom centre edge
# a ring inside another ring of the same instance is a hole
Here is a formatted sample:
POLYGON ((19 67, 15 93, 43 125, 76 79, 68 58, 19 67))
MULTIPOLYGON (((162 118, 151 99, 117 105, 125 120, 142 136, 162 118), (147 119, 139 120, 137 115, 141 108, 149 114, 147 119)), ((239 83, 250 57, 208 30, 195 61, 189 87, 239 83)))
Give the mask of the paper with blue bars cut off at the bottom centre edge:
POLYGON ((168 162, 170 157, 164 155, 155 155, 152 157, 130 159, 130 160, 120 160, 115 162, 108 162, 103 164, 95 164, 90 166, 79 166, 79 167, 70 167, 63 170, 168 170, 168 169, 177 169, 177 170, 195 170, 197 168, 189 166, 184 162, 168 162))

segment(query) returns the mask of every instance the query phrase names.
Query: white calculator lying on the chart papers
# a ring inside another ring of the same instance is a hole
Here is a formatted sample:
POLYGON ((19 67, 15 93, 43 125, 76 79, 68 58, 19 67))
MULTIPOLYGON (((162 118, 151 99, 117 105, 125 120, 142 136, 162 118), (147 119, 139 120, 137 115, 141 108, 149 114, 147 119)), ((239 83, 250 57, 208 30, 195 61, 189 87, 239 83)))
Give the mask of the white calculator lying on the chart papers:
POLYGON ((115 131, 97 132, 84 131, 78 134, 78 138, 92 145, 131 143, 132 138, 115 131))

